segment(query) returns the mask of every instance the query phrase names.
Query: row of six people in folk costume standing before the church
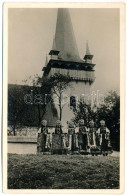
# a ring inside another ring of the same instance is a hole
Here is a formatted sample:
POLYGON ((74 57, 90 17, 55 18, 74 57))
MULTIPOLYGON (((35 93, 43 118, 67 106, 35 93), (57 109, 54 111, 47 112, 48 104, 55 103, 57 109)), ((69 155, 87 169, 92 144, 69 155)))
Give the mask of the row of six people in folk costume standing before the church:
POLYGON ((87 128, 84 120, 79 121, 78 132, 75 132, 73 122, 68 123, 68 133, 63 133, 61 121, 56 121, 54 133, 48 132, 47 121, 43 120, 38 132, 43 135, 43 150, 55 150, 56 148, 68 152, 78 151, 86 154, 107 155, 112 152, 110 144, 110 130, 105 126, 105 121, 100 121, 100 128, 96 128, 94 121, 89 122, 87 128))

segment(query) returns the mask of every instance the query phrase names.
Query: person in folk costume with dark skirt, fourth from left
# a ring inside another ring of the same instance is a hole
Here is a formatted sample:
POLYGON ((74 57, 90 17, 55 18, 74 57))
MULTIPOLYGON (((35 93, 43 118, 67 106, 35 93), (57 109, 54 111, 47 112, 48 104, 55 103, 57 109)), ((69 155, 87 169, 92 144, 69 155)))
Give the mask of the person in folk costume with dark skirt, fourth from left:
POLYGON ((84 125, 84 120, 79 121, 79 149, 89 152, 90 143, 88 137, 88 129, 84 125))

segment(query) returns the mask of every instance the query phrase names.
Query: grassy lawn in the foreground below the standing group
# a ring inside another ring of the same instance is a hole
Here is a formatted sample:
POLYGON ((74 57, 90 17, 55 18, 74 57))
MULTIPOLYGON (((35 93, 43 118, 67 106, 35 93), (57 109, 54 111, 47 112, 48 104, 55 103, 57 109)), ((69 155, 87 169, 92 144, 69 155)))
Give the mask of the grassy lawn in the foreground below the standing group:
POLYGON ((8 154, 9 189, 118 189, 119 157, 8 154))

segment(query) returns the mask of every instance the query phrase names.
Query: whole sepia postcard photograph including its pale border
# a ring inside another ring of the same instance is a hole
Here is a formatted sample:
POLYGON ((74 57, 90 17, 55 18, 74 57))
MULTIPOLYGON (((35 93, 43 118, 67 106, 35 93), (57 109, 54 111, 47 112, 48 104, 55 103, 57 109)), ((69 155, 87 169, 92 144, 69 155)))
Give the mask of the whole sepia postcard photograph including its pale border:
POLYGON ((123 3, 4 5, 7 192, 124 189, 124 12, 123 3))

